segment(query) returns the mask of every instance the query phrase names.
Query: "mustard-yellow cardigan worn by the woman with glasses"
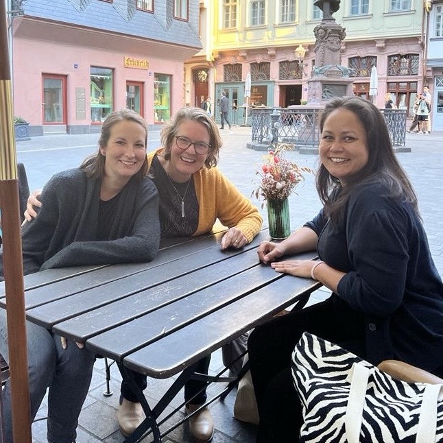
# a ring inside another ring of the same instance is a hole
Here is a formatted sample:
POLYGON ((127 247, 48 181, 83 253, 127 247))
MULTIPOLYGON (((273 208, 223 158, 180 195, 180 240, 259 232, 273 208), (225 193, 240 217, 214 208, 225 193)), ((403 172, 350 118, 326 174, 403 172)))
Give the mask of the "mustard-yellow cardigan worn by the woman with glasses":
MULTIPOLYGON (((148 166, 163 148, 147 154, 148 166)), ((262 217, 259 210, 232 184, 217 167, 202 167, 193 173, 193 182, 199 205, 198 226, 193 235, 211 232, 215 221, 228 228, 236 227, 248 239, 259 233, 262 217)), ((161 202, 160 202, 161 204, 161 202)))

